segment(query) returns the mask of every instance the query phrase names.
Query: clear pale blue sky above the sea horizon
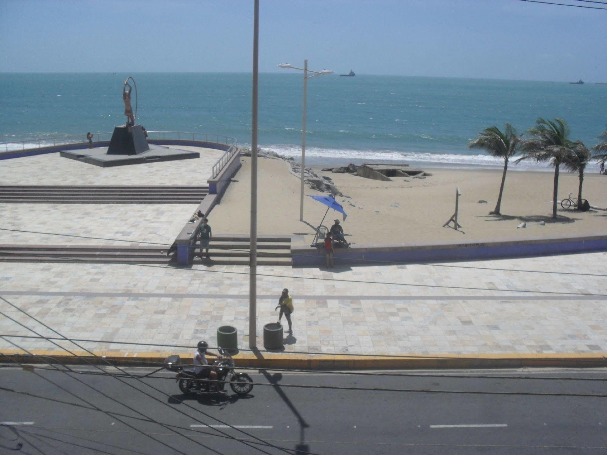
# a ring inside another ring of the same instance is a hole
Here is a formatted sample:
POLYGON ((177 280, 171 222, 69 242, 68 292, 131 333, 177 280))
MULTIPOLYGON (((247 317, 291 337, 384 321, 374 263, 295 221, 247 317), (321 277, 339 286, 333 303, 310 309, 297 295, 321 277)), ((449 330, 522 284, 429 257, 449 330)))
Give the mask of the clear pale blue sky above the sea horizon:
MULTIPOLYGON (((515 0, 260 0, 259 70, 607 82, 606 25, 515 0)), ((0 0, 0 72, 251 72, 252 48, 253 0, 0 0)))

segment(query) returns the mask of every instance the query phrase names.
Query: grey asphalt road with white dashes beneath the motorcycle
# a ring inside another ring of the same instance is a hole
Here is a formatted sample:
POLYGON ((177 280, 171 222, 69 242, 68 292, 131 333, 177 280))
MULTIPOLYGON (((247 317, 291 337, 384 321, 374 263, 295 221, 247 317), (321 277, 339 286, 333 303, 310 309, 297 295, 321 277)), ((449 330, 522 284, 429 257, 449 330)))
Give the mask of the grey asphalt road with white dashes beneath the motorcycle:
MULTIPOLYGON (((146 374, 153 370, 127 371, 146 374)), ((255 386, 250 396, 228 395, 219 400, 184 397, 172 380, 173 374, 168 372, 145 380, 164 394, 125 379, 157 400, 112 377, 73 375, 109 396, 104 397, 68 374, 39 369, 34 372, 0 368, 0 420, 11 425, 0 427, 1 453, 17 453, 9 449, 18 443, 22 444, 18 453, 25 454, 206 454, 212 450, 223 454, 262 453, 221 437, 226 435, 248 442, 259 442, 254 439, 257 437, 285 449, 253 444, 270 454, 296 453, 296 449, 302 453, 361 455, 607 453, 607 398, 516 394, 605 395, 605 369, 422 372, 481 374, 491 376, 489 379, 254 372, 254 381, 266 386, 255 386), (543 377, 558 379, 537 379, 543 377), (566 377, 600 380, 572 381, 566 377), (290 388, 286 384, 515 394, 351 391, 290 388), (182 428, 176 431, 190 439, 172 433, 166 426, 133 417, 175 425, 182 428), (239 426, 248 435, 230 428, 203 426, 224 424, 239 426)))

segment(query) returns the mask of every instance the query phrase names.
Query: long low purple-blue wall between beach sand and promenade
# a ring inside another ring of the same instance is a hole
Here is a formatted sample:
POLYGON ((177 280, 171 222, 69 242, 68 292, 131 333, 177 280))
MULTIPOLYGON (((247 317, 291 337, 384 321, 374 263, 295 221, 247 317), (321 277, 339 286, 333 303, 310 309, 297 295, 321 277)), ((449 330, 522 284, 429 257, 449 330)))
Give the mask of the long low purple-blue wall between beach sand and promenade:
MULTIPOLYGON (((607 251, 607 235, 530 237, 512 241, 479 241, 475 243, 356 245, 348 249, 336 248, 334 259, 336 265, 354 266, 390 262, 469 261, 593 251, 607 251)), ((314 248, 307 244, 293 244, 291 254, 294 267, 325 265, 323 248, 314 248)))

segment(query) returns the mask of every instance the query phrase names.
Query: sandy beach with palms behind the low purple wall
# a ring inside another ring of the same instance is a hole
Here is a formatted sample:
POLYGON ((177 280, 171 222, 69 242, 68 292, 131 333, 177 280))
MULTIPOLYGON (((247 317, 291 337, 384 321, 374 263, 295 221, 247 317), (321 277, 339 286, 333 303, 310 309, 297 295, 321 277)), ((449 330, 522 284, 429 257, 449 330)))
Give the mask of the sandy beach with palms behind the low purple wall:
MULTIPOLYGON (((215 234, 247 234, 250 223, 250 158, 235 176, 219 206, 209 216, 215 234)), ((345 163, 344 163, 345 164, 345 163)), ((589 166, 583 197, 592 206, 607 207, 607 178, 589 166)), ((412 242, 450 242, 479 240, 515 240, 525 237, 604 234, 607 211, 578 212, 558 206, 553 220, 553 172, 509 171, 501 204, 502 216, 489 215, 495 208, 501 170, 431 169, 424 179, 393 178, 393 181, 369 180, 350 174, 320 172, 332 178, 345 197, 336 197, 348 214, 330 210, 322 223, 327 227, 334 218, 342 221, 349 241, 355 244, 399 244, 412 242), (459 224, 463 232, 443 224, 455 207, 455 188, 459 186, 459 224), (479 203, 485 200, 487 203, 479 203), (544 225, 540 222, 544 221, 544 225), (524 229, 517 229, 521 223, 524 229)), ((559 198, 569 192, 577 195, 577 174, 563 172, 559 178, 559 198)), ((318 191, 305 187, 305 194, 318 191)), ((299 221, 299 178, 290 173, 289 164, 272 158, 259 159, 258 234, 300 234, 311 241, 314 226, 320 224, 326 207, 305 198, 304 222, 299 221)))

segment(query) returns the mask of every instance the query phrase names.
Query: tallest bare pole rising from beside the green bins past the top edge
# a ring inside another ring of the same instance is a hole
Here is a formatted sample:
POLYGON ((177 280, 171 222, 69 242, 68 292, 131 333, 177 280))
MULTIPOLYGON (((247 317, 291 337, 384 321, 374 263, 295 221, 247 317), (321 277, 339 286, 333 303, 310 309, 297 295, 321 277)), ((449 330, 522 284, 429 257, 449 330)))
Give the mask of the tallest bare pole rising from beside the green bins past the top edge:
POLYGON ((253 96, 251 100, 251 259, 249 274, 249 348, 257 348, 257 86, 259 85, 259 0, 253 19, 253 96))

